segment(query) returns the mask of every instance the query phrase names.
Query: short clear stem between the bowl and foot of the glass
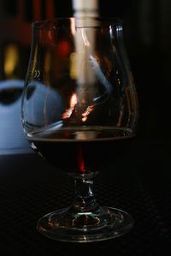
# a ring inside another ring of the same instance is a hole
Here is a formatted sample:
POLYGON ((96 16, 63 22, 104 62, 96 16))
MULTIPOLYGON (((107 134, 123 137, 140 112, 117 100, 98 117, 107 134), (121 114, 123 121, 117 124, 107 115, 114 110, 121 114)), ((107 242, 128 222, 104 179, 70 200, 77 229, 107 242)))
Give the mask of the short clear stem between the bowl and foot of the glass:
POLYGON ((96 199, 93 193, 93 180, 90 176, 74 177, 75 199, 74 208, 78 211, 92 211, 97 208, 96 199))

